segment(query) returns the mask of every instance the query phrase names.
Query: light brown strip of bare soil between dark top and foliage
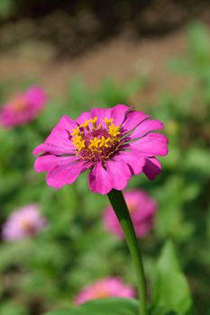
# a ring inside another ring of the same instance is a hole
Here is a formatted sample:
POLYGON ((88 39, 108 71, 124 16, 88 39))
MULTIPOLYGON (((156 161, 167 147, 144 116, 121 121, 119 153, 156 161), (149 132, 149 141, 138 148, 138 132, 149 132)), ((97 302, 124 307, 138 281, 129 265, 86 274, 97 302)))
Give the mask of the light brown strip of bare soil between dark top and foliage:
POLYGON ((169 88, 177 93, 187 85, 186 79, 171 76, 166 67, 169 58, 184 53, 185 43, 183 29, 156 39, 131 41, 121 35, 95 45, 78 58, 59 59, 54 58, 53 49, 46 43, 31 41, 0 53, 0 81, 36 77, 54 97, 65 93, 75 76, 84 78, 92 87, 105 77, 124 83, 143 74, 150 77, 150 88, 137 95, 137 101, 149 98, 155 102, 160 90, 169 88))

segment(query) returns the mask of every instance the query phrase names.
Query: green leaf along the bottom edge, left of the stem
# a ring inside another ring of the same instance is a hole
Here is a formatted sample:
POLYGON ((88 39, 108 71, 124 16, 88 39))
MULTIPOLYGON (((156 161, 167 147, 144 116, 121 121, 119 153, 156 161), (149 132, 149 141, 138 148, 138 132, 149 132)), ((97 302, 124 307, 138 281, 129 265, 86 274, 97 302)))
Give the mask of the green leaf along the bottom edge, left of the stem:
POLYGON ((109 298, 94 300, 64 311, 52 311, 46 315, 137 315, 138 302, 130 299, 109 298))

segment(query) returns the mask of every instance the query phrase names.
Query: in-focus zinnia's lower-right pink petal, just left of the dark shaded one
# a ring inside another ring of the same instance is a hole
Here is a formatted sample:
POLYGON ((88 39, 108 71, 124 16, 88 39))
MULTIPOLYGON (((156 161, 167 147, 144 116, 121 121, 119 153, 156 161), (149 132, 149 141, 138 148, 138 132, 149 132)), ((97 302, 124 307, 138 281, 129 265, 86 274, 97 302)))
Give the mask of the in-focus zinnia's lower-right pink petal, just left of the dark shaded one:
POLYGON ((136 150, 122 151, 114 157, 114 161, 123 161, 132 168, 132 174, 138 175, 142 173, 142 167, 145 165, 145 158, 136 150))

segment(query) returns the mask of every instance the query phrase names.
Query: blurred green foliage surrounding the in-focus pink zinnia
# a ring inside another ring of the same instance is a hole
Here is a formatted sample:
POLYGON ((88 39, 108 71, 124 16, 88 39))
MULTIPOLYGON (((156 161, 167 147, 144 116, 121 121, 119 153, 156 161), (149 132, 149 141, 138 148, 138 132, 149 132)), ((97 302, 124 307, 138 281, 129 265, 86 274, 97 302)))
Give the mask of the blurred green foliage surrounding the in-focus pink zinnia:
MULTIPOLYGON (((39 6, 42 3, 1 0, 1 23, 22 15, 23 8, 24 14, 30 14, 40 7, 44 11, 59 5, 57 1, 44 1, 46 6, 39 6)), ((74 1, 65 3, 69 7, 75 5, 74 1)), ((87 3, 84 1, 83 5, 87 3)), ((178 5, 187 2, 182 3, 178 5)), ((96 7, 96 2, 89 5, 96 7)), ((145 2, 141 5, 147 6, 145 2)), ((129 188, 145 189, 159 206, 154 230, 141 240, 150 298, 164 310, 172 308, 178 314, 187 314, 191 305, 188 281, 195 313, 207 315, 210 314, 209 30, 201 22, 188 23, 186 43, 184 56, 171 56, 165 63, 171 77, 177 74, 186 77, 189 84, 177 94, 161 89, 155 104, 148 102, 138 107, 164 121, 169 156, 161 159, 163 170, 155 182, 139 175, 132 179, 129 188), (168 300, 162 302, 166 296, 168 300), (184 296, 184 302, 180 296, 184 296)), ((30 78, 30 74, 28 80, 21 82, 0 82, 0 103, 32 82, 35 78, 30 78)), ((128 284, 135 285, 126 246, 108 234, 102 224, 106 197, 88 191, 87 174, 81 175, 72 186, 60 191, 51 189, 44 175, 33 170, 32 149, 46 138, 63 114, 76 118, 94 106, 129 104, 150 83, 151 77, 141 74, 124 85, 106 78, 98 87, 90 88, 75 76, 68 85, 68 93, 50 98, 35 121, 14 130, 0 129, 0 227, 12 211, 32 202, 41 205, 41 212, 49 221, 47 229, 35 238, 12 243, 1 240, 0 315, 39 315, 67 308, 81 288, 108 275, 121 276, 128 284)))

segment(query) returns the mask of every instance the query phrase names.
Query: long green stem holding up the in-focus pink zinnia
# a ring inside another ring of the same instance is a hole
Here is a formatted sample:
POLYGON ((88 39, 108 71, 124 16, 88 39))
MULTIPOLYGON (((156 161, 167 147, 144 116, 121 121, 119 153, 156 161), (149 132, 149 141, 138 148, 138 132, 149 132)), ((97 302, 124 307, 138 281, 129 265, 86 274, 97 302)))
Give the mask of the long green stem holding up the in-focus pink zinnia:
POLYGON ((146 315, 146 282, 143 271, 142 254, 140 251, 138 240, 136 238, 135 231, 133 229, 128 207, 121 191, 113 189, 110 193, 108 193, 108 198, 123 229, 124 238, 129 247, 133 264, 136 269, 140 301, 140 315, 146 315))

